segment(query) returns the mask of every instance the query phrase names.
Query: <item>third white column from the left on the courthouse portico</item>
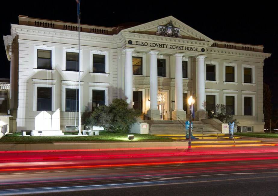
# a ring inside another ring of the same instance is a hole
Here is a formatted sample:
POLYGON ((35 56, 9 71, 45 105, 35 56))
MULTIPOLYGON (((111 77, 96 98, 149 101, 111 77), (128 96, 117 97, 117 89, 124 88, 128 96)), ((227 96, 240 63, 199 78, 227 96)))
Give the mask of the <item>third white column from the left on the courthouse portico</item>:
POLYGON ((182 53, 176 53, 176 70, 175 70, 175 111, 184 111, 182 106, 182 53))

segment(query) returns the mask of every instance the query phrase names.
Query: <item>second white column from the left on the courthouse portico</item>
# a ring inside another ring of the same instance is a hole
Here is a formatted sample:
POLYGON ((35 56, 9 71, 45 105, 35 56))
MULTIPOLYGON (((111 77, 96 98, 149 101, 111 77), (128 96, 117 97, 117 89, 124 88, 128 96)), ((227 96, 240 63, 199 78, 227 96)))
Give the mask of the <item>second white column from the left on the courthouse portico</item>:
POLYGON ((150 51, 150 110, 157 110, 157 54, 150 51))

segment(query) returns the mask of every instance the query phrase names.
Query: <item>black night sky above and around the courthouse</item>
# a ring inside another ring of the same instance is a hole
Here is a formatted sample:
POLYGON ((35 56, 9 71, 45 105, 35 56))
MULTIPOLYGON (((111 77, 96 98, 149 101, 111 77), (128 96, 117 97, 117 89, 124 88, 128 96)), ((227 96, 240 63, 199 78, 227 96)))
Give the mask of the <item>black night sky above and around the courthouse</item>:
MULTIPOLYGON (((245 44, 262 44, 264 52, 272 53, 265 61, 264 81, 270 85, 273 96, 278 96, 278 14, 276 6, 253 3, 242 6, 242 2, 188 4, 186 1, 81 1, 81 23, 98 26, 117 26, 126 22, 150 22, 172 15, 213 40, 245 44), (163 3, 162 3, 163 2, 163 3), (186 3, 181 3, 186 2, 186 3), (108 7, 109 6, 109 7, 108 7), (273 7, 273 8, 272 8, 273 7)), ((1 35, 10 35, 10 24, 18 24, 18 15, 34 18, 77 22, 76 1, 7 1, 1 10, 1 35)), ((0 78, 9 78, 10 63, 1 40, 2 71, 0 78)), ((278 99, 273 97, 278 109, 278 99)))

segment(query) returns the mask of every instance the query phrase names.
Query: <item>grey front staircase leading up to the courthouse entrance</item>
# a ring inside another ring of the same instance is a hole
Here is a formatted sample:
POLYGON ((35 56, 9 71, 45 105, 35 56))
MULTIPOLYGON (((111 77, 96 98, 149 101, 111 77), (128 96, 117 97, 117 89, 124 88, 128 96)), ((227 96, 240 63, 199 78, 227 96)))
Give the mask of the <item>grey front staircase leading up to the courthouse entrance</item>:
MULTIPOLYGON (((184 126, 177 120, 145 120, 149 124, 149 134, 152 135, 171 135, 171 134, 185 134, 184 126)), ((214 133, 221 133, 210 124, 205 124, 202 121, 193 122, 193 134, 200 134, 200 132, 213 131, 214 133)))

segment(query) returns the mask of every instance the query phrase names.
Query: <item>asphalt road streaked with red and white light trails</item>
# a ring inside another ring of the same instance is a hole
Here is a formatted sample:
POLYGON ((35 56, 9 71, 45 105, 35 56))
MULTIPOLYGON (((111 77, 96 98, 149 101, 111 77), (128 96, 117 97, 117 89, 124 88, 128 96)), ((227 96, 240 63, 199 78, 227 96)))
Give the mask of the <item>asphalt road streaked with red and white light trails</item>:
POLYGON ((278 195, 277 152, 18 164, 0 164, 0 195, 278 195))

